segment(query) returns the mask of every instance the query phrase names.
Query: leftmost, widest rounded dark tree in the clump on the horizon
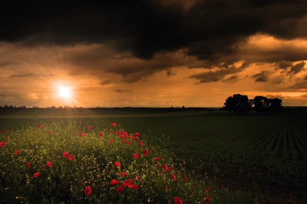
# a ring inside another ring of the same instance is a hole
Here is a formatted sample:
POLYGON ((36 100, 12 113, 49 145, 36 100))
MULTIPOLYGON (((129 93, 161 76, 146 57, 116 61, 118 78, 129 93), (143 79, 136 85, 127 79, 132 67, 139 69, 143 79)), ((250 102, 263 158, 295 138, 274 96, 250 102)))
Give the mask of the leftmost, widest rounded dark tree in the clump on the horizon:
POLYGON ((248 99, 247 95, 233 94, 226 99, 223 108, 230 113, 232 111, 235 114, 248 113, 251 108, 251 100, 248 99))

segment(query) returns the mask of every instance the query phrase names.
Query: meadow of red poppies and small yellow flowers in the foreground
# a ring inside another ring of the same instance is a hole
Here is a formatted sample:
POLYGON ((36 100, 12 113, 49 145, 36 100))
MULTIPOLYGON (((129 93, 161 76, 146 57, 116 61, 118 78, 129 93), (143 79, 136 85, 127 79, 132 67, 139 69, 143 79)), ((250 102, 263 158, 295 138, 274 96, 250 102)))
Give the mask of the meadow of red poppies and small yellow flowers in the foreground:
MULTIPOLYGON (((163 140, 120 125, 39 123, 0 133, 3 203, 215 203, 163 140)), ((211 187, 212 188, 212 187, 211 187)), ((213 198, 215 197, 215 199, 213 198)))

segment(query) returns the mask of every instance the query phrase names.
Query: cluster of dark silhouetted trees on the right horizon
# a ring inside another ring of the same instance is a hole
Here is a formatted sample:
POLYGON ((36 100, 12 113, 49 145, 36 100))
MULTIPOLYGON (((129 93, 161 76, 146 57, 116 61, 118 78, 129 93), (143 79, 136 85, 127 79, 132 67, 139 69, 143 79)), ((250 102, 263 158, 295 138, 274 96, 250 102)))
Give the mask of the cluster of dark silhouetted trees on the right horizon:
POLYGON ((249 99, 247 95, 233 94, 226 99, 223 108, 235 114, 245 114, 250 111, 256 111, 258 114, 278 114, 282 110, 281 103, 280 98, 255 96, 249 99))

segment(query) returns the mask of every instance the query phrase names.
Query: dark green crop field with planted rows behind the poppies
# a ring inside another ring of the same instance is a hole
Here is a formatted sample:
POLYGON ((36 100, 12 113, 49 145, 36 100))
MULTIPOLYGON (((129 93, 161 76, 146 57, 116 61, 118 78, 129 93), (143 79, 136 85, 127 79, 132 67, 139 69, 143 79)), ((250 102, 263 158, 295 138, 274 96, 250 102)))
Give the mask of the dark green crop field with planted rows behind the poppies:
POLYGON ((252 184, 307 188, 304 114, 230 115, 227 112, 99 113, 14 112, 0 115, 0 130, 28 122, 69 120, 94 128, 121 124, 128 133, 169 137, 167 148, 190 170, 252 184), (53 118, 53 120, 52 120, 53 118), (149 132, 150 131, 150 132, 149 132))

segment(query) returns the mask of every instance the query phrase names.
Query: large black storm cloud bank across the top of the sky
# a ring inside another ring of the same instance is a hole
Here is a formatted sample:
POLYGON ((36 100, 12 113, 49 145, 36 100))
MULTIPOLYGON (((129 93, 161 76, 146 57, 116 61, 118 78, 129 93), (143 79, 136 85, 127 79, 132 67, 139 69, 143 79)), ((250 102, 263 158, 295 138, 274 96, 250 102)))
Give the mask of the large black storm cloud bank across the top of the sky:
POLYGON ((2 8, 0 41, 35 46, 47 44, 47 34, 51 35, 48 40, 60 45, 107 42, 142 59, 186 48, 187 55, 217 61, 238 52, 253 34, 280 39, 307 35, 303 20, 307 3, 303 1, 200 1, 188 9, 148 0, 41 1, 33 6, 6 1, 2 8))

